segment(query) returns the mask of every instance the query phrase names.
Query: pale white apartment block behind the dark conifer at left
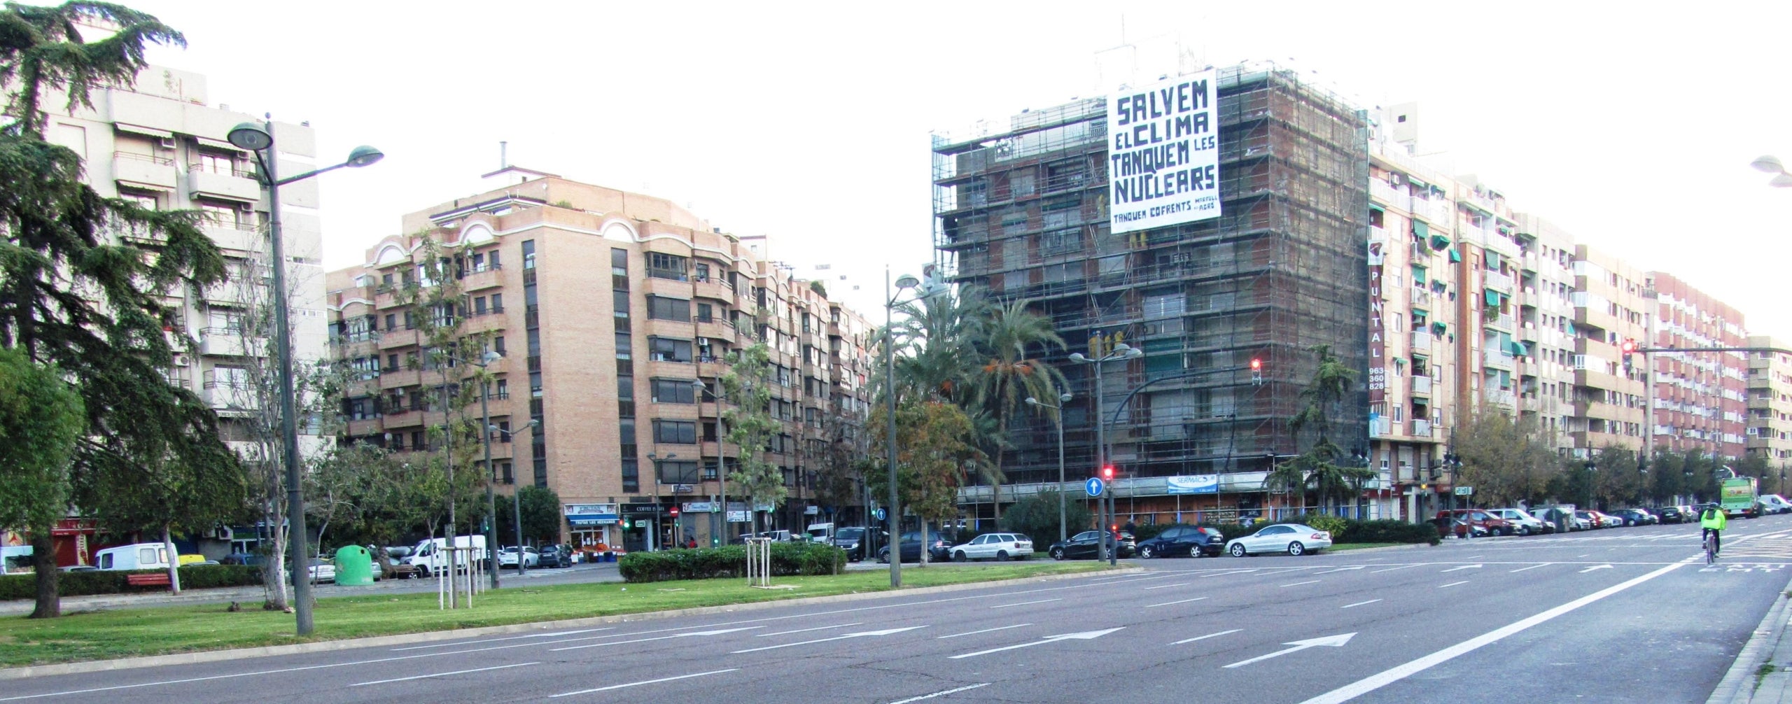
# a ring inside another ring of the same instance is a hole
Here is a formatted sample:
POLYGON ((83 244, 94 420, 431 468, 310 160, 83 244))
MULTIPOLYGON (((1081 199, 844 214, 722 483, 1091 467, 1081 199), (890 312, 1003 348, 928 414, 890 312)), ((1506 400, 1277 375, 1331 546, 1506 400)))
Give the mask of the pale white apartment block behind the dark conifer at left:
MULTIPOLYGON (((229 281, 208 290, 177 290, 170 299, 179 321, 170 335, 179 348, 167 371, 172 383, 204 398, 220 417, 219 432, 244 459, 260 457, 260 446, 238 421, 256 412, 256 394, 247 389, 251 358, 267 349, 265 339, 246 333, 251 306, 269 301, 265 287, 267 204, 254 179, 254 156, 226 142, 229 129, 254 116, 213 106, 206 77, 154 66, 129 88, 93 91, 91 109, 52 113, 48 138, 81 154, 86 181, 99 195, 134 201, 156 210, 197 210, 204 231, 226 256, 229 281)), ((315 133, 310 125, 274 124, 280 170, 297 174, 315 168, 315 133)), ((292 290, 292 349, 297 360, 326 355, 324 276, 317 185, 299 181, 281 188, 287 285, 292 290)), ((125 242, 156 247, 158 242, 120 233, 125 242)), ((306 428, 301 425, 301 434, 306 428)), ((301 435, 301 448, 314 448, 314 435, 301 435)))

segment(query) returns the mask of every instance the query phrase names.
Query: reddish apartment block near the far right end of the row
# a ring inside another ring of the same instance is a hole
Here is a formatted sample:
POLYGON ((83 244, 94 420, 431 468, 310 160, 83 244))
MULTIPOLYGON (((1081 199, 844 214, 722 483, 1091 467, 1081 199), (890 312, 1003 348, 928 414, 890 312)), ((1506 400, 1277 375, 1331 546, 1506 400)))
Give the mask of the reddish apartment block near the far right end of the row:
MULTIPOLYGON (((1647 348, 1742 348, 1742 312, 1667 272, 1649 272, 1652 330, 1647 348)), ((1652 444, 1676 451, 1742 457, 1747 450, 1747 353, 1652 353, 1652 444)))

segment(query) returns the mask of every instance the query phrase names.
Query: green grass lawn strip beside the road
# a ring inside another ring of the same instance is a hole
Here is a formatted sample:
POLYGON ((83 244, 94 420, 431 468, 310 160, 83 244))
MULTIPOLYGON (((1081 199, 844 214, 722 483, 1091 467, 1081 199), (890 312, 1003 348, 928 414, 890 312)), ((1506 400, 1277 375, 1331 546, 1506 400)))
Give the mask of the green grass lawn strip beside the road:
MULTIPOLYGON (((975 570, 903 570, 903 586, 989 582, 1016 577, 1106 570, 1097 562, 991 564, 975 570)), ((229 613, 220 604, 168 605, 79 613, 50 620, 0 618, 0 666, 72 663, 159 656, 170 652, 247 648, 301 641, 389 636, 401 632, 471 629, 611 616, 704 605, 774 602, 862 591, 889 591, 889 573, 851 571, 831 577, 776 577, 796 589, 754 589, 744 579, 654 584, 557 584, 507 588, 475 597, 473 609, 443 611, 435 595, 378 595, 319 598, 312 611, 315 632, 292 634, 292 614, 244 604, 229 613)))

